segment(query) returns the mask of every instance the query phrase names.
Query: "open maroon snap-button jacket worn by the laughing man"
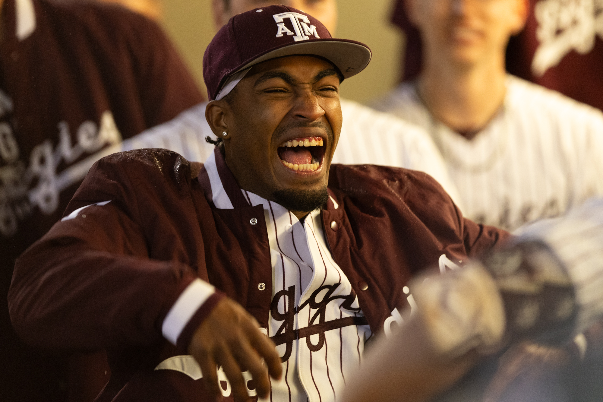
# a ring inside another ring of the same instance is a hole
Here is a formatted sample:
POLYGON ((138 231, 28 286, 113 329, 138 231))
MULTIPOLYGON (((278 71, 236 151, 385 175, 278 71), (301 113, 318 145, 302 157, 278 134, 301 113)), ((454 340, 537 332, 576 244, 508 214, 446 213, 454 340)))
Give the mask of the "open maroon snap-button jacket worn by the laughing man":
MULTIPOLYGON (((44 348, 107 348, 113 374, 99 401, 208 400, 202 380, 153 371, 186 354, 191 329, 209 312, 195 314, 178 347, 163 339, 164 317, 197 277, 267 327, 272 272, 264 211, 244 201, 219 152, 216 165, 234 209, 216 209, 204 169, 177 153, 134 150, 101 159, 65 213, 111 202, 58 222, 17 260, 9 292, 17 333, 44 348), (258 225, 249 224, 253 217, 258 225)), ((332 165, 329 192, 338 208, 329 201, 322 211, 327 243, 373 333, 406 305, 402 288, 415 272, 442 254, 466 260, 508 237, 463 219, 440 185, 418 171, 332 165)))

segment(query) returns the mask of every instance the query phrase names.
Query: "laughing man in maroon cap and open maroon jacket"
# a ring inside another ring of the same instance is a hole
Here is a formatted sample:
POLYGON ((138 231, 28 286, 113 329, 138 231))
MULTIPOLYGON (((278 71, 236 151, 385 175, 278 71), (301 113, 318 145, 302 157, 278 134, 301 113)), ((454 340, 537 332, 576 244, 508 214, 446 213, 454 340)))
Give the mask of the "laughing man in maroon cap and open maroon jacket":
POLYGON ((331 164, 339 85, 370 56, 291 7, 231 18, 204 57, 215 152, 95 164, 17 261, 17 332, 106 348, 97 401, 335 400, 365 342, 412 304, 415 272, 508 236, 463 219, 425 173, 331 164))

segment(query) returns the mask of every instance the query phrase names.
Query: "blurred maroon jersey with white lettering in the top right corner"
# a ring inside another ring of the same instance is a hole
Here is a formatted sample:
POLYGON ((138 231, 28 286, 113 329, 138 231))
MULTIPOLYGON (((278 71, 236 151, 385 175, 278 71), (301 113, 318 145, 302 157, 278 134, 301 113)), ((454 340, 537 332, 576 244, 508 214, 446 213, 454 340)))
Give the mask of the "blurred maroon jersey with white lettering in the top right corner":
POLYGON ((603 2, 529 0, 529 11, 507 70, 603 109, 603 2))

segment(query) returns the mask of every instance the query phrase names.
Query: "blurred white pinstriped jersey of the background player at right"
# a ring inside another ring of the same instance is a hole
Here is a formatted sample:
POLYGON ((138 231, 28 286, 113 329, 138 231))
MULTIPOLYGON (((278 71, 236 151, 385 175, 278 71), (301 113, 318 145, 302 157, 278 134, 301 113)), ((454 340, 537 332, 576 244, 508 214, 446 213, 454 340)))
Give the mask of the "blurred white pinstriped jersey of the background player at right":
POLYGON ((504 105, 472 140, 435 121, 414 83, 374 106, 431 134, 476 222, 515 229, 603 194, 603 114, 557 92, 509 75, 504 105))

